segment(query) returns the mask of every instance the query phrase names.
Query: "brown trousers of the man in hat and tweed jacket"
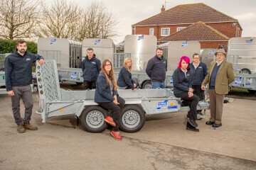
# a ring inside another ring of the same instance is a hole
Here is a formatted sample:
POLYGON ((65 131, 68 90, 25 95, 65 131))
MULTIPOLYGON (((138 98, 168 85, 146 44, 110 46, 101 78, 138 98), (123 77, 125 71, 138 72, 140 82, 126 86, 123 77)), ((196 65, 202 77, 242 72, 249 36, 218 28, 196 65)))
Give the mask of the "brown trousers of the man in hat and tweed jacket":
POLYGON ((216 94, 215 89, 209 89, 210 96, 210 121, 215 124, 221 123, 223 113, 223 101, 225 94, 216 94))

